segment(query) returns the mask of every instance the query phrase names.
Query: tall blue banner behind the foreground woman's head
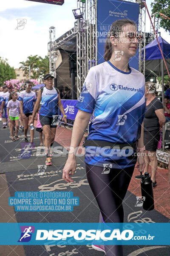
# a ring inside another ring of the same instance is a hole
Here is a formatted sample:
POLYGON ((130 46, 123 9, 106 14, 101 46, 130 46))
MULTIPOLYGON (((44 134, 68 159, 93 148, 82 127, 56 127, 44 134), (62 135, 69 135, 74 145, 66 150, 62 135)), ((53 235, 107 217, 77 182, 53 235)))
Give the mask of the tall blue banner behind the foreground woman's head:
MULTIPOLYGON (((111 24, 115 20, 130 19, 139 23, 139 4, 119 0, 97 0, 97 47, 98 64, 104 61, 105 42, 111 24)), ((119 29, 119 28, 118 28, 119 29)), ((117 29, 116 29, 117 30, 117 29)), ((138 70, 138 51, 130 58, 129 65, 138 70)))

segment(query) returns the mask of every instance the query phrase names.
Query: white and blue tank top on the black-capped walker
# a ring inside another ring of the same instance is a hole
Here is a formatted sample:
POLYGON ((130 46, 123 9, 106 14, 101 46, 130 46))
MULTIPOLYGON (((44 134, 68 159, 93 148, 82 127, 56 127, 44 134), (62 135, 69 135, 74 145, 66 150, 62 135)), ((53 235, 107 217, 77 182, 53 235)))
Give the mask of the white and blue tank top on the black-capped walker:
POLYGON ((51 90, 45 86, 41 95, 40 115, 52 117, 58 114, 58 93, 53 87, 51 90))

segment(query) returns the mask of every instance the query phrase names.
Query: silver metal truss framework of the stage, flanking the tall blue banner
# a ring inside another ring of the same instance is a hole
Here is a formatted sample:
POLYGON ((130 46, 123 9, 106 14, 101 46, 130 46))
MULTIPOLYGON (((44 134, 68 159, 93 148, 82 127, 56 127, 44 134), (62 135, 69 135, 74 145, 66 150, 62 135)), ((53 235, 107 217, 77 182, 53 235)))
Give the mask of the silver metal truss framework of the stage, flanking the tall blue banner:
MULTIPOLYGON (((143 0, 129 0, 139 3, 139 32, 143 35, 143 42, 139 44, 139 71, 145 74, 145 58, 142 59, 142 48, 145 57, 145 22, 146 9, 143 0)), ((55 77, 55 61, 57 49, 73 37, 77 37, 77 99, 90 67, 97 65, 97 0, 77 0, 77 8, 81 10, 82 18, 74 23, 74 28, 66 32, 55 41, 55 28, 50 27, 50 42, 48 51, 50 58, 50 73, 55 77)))

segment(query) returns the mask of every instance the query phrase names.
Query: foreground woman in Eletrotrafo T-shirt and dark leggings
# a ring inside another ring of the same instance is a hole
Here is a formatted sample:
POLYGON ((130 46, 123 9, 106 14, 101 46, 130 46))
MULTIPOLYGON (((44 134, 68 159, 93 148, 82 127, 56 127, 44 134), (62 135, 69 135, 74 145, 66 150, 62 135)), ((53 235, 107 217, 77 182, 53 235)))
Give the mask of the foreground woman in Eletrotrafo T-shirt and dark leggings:
MULTIPOLYGON (((91 67, 76 107, 71 147, 62 178, 74 182, 76 152, 85 129, 85 168, 88 183, 100 209, 100 222, 124 221, 122 201, 137 161, 144 170, 143 119, 145 113, 145 79, 129 67, 136 55, 138 40, 133 20, 116 20, 105 44, 105 62, 91 67), (118 29, 118 30, 116 30, 118 29), (139 151, 139 152, 137 152, 139 151)), ((96 245, 106 256, 123 256, 122 245, 96 245)))

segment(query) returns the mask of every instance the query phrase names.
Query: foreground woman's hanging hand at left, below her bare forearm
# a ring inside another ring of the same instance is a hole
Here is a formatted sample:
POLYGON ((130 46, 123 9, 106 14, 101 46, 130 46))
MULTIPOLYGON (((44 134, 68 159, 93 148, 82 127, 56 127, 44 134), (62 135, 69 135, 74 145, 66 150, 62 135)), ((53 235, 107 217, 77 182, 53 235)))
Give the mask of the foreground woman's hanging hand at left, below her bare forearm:
POLYGON ((68 159, 67 162, 65 163, 62 178, 66 182, 74 182, 74 180, 70 176, 74 175, 74 172, 76 170, 76 165, 77 164, 75 159, 72 159, 72 160, 68 159))

